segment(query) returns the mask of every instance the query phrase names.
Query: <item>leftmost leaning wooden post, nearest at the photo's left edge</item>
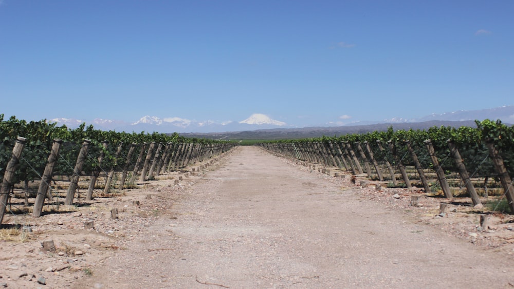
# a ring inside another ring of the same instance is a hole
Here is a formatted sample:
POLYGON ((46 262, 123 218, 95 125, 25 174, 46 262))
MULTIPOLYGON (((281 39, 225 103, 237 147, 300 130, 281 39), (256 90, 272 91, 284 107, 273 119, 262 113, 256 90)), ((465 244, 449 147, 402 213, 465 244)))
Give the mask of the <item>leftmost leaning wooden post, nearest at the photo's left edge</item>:
POLYGON ((5 168, 4 179, 2 180, 2 187, 0 188, 0 224, 4 220, 5 210, 7 208, 7 201, 9 200, 9 191, 14 185, 15 172, 20 164, 20 158, 22 156, 23 147, 27 139, 17 137, 16 143, 12 148, 11 159, 7 163, 5 168))

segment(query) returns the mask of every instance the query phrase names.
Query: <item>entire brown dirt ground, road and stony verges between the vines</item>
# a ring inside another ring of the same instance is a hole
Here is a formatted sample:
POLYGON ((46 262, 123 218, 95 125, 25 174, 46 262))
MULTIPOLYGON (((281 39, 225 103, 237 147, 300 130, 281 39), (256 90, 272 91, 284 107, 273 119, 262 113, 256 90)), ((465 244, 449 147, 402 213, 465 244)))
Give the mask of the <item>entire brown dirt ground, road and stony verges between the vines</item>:
POLYGON ((236 147, 211 163, 199 173, 196 164, 194 176, 172 172, 60 214, 6 215, 5 223, 32 232, 0 242, 0 284, 514 287, 512 215, 489 214, 483 229, 480 215, 488 212, 469 199, 377 190, 371 181, 361 187, 363 177, 356 185, 346 173, 332 177, 258 147, 236 147), (421 205, 410 206, 411 196, 421 205), (439 203, 450 204, 443 217, 439 203), (89 220, 93 229, 84 228, 89 220), (42 250, 45 240, 55 251, 42 250))

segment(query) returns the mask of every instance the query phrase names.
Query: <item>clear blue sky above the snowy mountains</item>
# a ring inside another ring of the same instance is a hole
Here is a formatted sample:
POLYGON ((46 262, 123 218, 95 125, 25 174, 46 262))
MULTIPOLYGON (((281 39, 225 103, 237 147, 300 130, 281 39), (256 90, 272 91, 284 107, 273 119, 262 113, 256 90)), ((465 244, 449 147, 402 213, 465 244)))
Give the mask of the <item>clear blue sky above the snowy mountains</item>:
POLYGON ((0 113, 291 125, 514 104, 514 1, 0 0, 0 113))

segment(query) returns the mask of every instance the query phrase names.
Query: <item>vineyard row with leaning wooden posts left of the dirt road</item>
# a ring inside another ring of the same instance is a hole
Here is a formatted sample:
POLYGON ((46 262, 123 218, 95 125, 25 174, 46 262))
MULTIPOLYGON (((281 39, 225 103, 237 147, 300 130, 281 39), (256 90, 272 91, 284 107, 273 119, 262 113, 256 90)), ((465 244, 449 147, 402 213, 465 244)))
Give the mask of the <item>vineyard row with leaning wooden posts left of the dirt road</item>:
POLYGON ((25 184, 27 200, 29 182, 39 181, 32 210, 32 216, 39 217, 45 199, 52 198, 52 189, 56 188, 59 180, 68 180, 64 204, 73 205, 81 177, 89 180, 85 198, 91 200, 100 176, 105 180, 103 194, 107 195, 117 180, 118 188, 123 189, 133 186, 136 181, 144 182, 164 172, 204 162, 235 145, 186 139, 177 134, 100 131, 84 125, 72 130, 46 121, 27 124, 14 117, 4 122, 3 115, 0 115, 0 134, 0 224, 16 184, 25 184), (13 140, 12 134, 17 132, 25 132, 25 135, 19 135, 29 138, 13 140), (100 137, 103 141, 91 141, 90 137, 100 137), (143 141, 127 143, 126 140, 143 141))

